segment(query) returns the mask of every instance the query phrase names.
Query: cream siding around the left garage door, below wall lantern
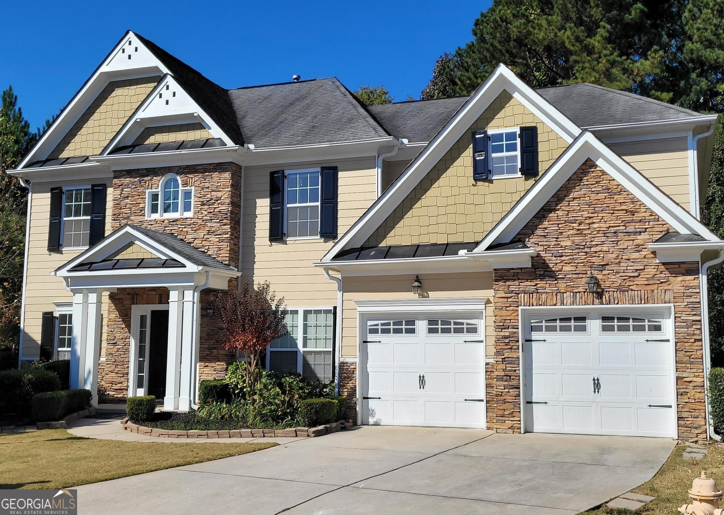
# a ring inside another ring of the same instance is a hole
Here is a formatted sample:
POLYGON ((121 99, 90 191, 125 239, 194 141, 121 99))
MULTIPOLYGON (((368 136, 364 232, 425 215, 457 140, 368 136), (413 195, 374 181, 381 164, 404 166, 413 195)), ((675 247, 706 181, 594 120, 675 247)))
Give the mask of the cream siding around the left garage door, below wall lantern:
MULTIPOLYGON (((357 356, 357 305, 355 300, 416 299, 410 285, 415 274, 406 276, 345 277, 342 283, 342 357, 357 356)), ((485 348, 488 357, 493 347, 493 273, 438 273, 421 275, 423 293, 431 299, 450 297, 487 297, 485 306, 485 348)))

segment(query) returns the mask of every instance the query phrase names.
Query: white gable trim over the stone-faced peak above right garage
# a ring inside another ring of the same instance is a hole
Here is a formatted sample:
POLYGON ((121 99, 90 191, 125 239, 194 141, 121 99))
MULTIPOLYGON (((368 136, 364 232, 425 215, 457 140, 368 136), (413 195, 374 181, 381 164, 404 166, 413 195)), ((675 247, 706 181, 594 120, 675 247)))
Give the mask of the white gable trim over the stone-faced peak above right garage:
POLYGON ((691 213, 671 200, 591 132, 583 132, 513 205, 513 208, 503 216, 472 252, 481 252, 492 244, 509 242, 513 239, 587 158, 613 176, 626 190, 661 216, 675 231, 681 234, 699 234, 712 242, 720 241, 701 222, 691 216, 691 213))

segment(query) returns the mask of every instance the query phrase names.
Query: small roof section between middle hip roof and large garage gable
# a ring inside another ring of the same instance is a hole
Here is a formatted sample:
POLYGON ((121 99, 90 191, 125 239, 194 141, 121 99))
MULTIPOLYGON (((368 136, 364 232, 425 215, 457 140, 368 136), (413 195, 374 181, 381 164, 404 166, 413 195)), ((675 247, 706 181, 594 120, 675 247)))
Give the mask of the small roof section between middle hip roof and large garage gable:
POLYGON ((390 134, 406 137, 411 143, 423 142, 432 140, 466 100, 468 97, 388 103, 369 110, 390 134))

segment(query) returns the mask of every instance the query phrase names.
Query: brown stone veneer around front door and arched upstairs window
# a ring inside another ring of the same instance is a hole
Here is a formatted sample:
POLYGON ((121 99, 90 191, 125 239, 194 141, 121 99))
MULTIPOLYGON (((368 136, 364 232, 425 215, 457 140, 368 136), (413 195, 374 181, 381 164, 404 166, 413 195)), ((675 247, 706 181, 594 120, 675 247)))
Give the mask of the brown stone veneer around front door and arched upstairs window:
MULTIPOLYGON (((238 267, 240 182, 241 167, 235 163, 116 171, 111 226, 115 230, 124 224, 134 224, 175 234, 222 263, 238 267), (146 190, 157 187, 160 177, 169 172, 178 174, 183 186, 193 185, 194 214, 188 218, 147 220, 146 190)), ((232 359, 222 347, 218 320, 209 320, 203 310, 211 295, 211 291, 201 295, 199 376, 202 380, 222 376, 232 359)), ((167 302, 167 289, 120 289, 109 295, 106 355, 98 370, 98 383, 106 399, 127 395, 131 305, 167 302), (160 294, 164 294, 163 300, 156 302, 160 294)))

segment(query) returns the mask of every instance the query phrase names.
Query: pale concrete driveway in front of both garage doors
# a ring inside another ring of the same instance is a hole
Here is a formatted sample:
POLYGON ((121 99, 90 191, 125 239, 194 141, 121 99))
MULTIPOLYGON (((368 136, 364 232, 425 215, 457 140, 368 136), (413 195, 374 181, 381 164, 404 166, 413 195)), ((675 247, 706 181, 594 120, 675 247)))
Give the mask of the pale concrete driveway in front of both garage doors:
POLYGON ((576 514, 649 480, 674 445, 357 427, 80 486, 78 504, 84 514, 576 514))

